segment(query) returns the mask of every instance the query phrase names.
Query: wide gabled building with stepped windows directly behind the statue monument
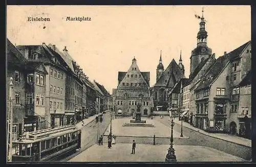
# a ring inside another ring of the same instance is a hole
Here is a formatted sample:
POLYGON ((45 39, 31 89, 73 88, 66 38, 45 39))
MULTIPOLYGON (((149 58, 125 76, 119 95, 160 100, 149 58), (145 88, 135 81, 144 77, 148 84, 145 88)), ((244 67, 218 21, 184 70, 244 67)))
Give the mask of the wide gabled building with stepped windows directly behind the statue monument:
POLYGON ((134 115, 138 104, 141 104, 141 116, 151 114, 150 72, 141 72, 135 58, 127 72, 118 72, 118 86, 113 89, 113 97, 116 114, 134 115))

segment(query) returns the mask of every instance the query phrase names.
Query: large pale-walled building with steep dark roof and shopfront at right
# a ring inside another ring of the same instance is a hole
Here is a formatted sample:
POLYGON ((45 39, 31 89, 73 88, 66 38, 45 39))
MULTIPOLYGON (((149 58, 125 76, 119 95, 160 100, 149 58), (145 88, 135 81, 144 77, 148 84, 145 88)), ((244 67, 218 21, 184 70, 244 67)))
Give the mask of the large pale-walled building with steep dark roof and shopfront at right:
POLYGON ((195 100, 197 106, 196 127, 209 132, 237 134, 240 94, 239 87, 233 86, 232 83, 237 80, 241 81, 241 79, 234 77, 238 74, 234 75, 233 72, 238 70, 238 73, 243 73, 243 70, 238 66, 241 61, 237 59, 243 58, 250 61, 250 59, 245 58, 249 57, 249 54, 245 55, 248 47, 249 42, 228 54, 224 53, 210 67, 198 84, 195 89, 197 94, 195 100), (237 65, 236 69, 234 64, 237 65))

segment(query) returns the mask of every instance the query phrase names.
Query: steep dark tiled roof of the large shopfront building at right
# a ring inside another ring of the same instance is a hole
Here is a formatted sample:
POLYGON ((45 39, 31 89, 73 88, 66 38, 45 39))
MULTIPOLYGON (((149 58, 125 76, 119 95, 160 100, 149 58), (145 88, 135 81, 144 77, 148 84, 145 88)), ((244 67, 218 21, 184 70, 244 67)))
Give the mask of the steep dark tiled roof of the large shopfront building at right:
POLYGON ((221 73, 225 65, 229 62, 229 60, 237 58, 241 55, 242 51, 245 49, 247 44, 248 42, 241 45, 237 49, 231 51, 230 53, 227 53, 226 55, 219 57, 217 61, 210 67, 208 73, 202 78, 196 90, 209 86, 210 83, 212 83, 219 76, 219 74, 221 73))

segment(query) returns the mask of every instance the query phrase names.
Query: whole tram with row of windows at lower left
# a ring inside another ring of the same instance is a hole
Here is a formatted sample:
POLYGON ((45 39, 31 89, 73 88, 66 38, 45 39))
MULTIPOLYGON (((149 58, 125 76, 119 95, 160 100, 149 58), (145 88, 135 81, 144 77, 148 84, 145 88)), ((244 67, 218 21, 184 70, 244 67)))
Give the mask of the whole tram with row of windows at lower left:
POLYGON ((67 125, 27 132, 12 145, 12 162, 51 161, 81 147, 81 129, 67 125))

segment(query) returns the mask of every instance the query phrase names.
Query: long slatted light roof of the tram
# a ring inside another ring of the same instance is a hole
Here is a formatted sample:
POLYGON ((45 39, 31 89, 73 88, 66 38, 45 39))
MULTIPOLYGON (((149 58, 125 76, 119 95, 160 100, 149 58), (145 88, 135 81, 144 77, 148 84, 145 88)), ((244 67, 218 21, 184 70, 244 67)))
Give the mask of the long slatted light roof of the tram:
POLYGON ((16 143, 31 143, 31 142, 36 142, 40 140, 45 140, 48 138, 52 138, 54 136, 60 136, 62 134, 67 134, 73 131, 79 130, 77 129, 74 125, 70 126, 61 126, 57 128, 48 128, 48 129, 42 129, 42 130, 37 130, 33 132, 28 132, 28 134, 24 134, 21 136, 19 140, 13 141, 16 143))

